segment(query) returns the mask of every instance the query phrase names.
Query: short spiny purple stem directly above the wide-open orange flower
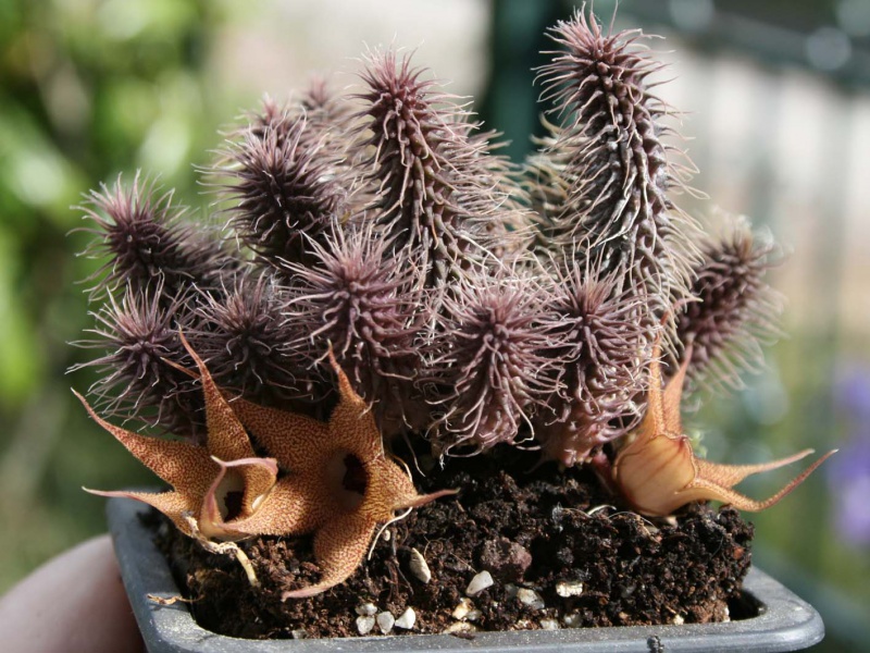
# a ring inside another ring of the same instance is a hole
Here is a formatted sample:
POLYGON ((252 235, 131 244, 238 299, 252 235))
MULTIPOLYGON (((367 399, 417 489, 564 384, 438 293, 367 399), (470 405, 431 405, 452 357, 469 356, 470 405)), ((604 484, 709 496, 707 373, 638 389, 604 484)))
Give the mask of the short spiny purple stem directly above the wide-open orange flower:
POLYGON ((290 346, 322 360, 332 347, 355 387, 374 403, 382 430, 425 428, 427 410, 414 389, 415 338, 428 321, 426 301, 407 268, 386 255, 373 225, 336 229, 313 243, 310 266, 290 264, 285 319, 290 346))

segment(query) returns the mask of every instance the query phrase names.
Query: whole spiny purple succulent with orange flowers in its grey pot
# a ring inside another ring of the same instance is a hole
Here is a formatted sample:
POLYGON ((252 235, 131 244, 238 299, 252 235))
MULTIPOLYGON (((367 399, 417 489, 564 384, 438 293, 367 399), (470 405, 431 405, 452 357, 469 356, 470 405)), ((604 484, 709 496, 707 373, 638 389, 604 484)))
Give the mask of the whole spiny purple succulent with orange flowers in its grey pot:
POLYGON ((580 11, 552 36, 538 77, 559 124, 521 170, 384 50, 357 94, 315 82, 229 136, 203 171, 213 223, 138 176, 91 194, 109 262, 82 401, 171 485, 98 492, 121 497, 110 521, 153 650, 821 638, 773 581, 743 584, 734 507, 769 507, 826 456, 755 501, 733 486, 811 452, 718 465, 681 421, 684 392, 733 386, 775 333, 774 248, 675 206, 689 165, 662 143, 673 111, 639 32, 580 11))

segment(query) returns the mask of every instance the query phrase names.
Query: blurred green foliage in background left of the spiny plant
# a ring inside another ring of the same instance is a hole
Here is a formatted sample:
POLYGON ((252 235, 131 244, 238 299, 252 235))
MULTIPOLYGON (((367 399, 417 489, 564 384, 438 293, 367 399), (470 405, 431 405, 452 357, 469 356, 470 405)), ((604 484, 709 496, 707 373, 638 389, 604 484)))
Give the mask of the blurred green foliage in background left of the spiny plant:
MULTIPOLYGON (((206 83, 209 0, 5 0, 0 3, 0 591, 60 549, 104 528, 83 483, 152 482, 90 428, 69 386, 69 346, 90 324, 98 267, 71 210, 99 180, 160 171, 201 202, 204 163, 226 106, 206 83)), ((121 451, 119 451, 121 449, 121 451)))

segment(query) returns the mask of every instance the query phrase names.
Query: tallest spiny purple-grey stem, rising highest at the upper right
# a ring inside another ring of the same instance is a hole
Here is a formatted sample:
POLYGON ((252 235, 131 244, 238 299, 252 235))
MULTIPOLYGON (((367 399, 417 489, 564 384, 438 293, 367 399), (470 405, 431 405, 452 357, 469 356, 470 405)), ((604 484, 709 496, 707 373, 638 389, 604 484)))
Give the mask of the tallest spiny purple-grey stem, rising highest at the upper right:
POLYGON ((612 273, 618 292, 646 294, 660 316, 687 293, 695 224, 669 195, 684 187, 687 169, 669 161, 662 119, 671 110, 647 81, 661 66, 636 46, 641 37, 605 34, 584 10, 552 29, 564 50, 539 78, 564 124, 532 168, 551 211, 544 237, 612 273))

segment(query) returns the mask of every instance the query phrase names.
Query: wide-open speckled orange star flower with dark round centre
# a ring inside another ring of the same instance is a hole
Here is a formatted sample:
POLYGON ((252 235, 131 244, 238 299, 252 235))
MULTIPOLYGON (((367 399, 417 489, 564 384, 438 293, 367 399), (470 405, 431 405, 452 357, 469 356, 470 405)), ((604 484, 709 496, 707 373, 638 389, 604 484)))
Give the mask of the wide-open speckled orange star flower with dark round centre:
POLYGON ((315 532, 314 556, 323 570, 314 586, 284 597, 318 594, 344 581, 365 555, 378 523, 455 490, 418 495, 408 473, 384 451, 374 415, 330 354, 340 402, 327 423, 244 399, 233 408, 257 442, 290 473, 260 510, 234 528, 258 534, 315 532), (293 432, 293 438, 287 433, 293 432))

